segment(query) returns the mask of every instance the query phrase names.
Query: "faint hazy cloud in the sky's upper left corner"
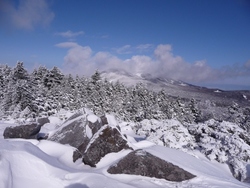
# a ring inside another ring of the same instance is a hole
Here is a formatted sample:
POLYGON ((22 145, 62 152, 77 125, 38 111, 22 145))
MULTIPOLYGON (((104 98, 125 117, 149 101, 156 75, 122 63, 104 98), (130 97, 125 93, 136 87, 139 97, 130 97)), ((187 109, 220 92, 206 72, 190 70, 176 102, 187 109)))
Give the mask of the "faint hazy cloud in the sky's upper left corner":
POLYGON ((3 24, 18 29, 33 29, 35 26, 47 26, 54 13, 46 0, 19 0, 17 6, 11 1, 2 0, 0 12, 3 24))

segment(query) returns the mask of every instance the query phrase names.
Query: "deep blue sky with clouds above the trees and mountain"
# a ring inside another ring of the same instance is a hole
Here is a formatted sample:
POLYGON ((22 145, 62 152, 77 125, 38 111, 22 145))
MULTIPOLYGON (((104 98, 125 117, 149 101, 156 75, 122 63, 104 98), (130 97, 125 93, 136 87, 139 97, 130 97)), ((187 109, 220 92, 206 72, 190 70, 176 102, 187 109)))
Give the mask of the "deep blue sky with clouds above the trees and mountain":
POLYGON ((248 0, 1 0, 0 63, 250 89, 248 0))

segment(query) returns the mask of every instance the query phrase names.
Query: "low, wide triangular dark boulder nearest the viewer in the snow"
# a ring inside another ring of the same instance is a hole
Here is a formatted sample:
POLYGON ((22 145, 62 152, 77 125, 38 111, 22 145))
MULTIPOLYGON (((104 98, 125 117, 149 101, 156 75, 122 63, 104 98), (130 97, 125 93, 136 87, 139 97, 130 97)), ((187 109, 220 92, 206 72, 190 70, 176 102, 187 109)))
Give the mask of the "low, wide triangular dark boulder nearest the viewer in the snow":
POLYGON ((144 150, 129 153, 108 169, 111 174, 133 174, 181 182, 195 175, 144 150))

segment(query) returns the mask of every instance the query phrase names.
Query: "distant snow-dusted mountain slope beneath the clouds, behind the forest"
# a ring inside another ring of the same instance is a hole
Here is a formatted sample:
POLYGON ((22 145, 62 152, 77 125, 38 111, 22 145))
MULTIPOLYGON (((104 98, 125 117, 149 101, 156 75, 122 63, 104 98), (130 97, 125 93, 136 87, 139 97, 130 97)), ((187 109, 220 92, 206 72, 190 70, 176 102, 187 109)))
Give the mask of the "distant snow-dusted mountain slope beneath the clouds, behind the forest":
POLYGON ((130 74, 122 70, 110 70, 101 73, 102 79, 110 82, 134 86, 142 83, 150 90, 160 91, 164 89, 167 94, 181 98, 195 98, 197 100, 212 100, 219 103, 231 103, 235 101, 244 106, 250 105, 250 91, 223 91, 195 86, 171 78, 155 77, 151 74, 130 74))

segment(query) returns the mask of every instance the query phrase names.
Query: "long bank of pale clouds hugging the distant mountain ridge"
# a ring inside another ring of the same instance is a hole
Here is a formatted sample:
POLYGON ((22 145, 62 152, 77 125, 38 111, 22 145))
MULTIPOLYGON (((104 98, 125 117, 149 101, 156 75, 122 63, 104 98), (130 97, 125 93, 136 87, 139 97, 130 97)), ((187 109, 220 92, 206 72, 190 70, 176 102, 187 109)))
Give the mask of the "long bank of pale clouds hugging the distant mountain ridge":
MULTIPOLYGON (((169 44, 158 45, 153 57, 134 55, 126 60, 119 59, 109 52, 94 53, 89 46, 81 46, 75 42, 59 43, 56 46, 68 49, 64 57, 64 71, 78 75, 90 76, 95 70, 123 69, 131 73, 150 73, 190 83, 250 77, 250 60, 241 66, 213 69, 205 60, 188 63, 182 57, 175 56, 169 44)), ((144 47, 148 46, 141 46, 144 47)), ((130 46, 126 45, 124 48, 130 46)))

